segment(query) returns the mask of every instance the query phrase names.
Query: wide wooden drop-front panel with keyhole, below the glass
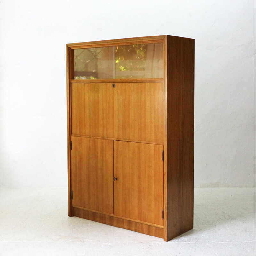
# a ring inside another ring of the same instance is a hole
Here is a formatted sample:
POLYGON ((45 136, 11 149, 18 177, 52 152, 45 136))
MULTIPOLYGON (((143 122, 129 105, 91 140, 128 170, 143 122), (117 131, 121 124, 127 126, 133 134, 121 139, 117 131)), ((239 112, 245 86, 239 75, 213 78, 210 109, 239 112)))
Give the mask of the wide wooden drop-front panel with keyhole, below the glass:
POLYGON ((164 142, 163 83, 72 83, 72 134, 164 142))

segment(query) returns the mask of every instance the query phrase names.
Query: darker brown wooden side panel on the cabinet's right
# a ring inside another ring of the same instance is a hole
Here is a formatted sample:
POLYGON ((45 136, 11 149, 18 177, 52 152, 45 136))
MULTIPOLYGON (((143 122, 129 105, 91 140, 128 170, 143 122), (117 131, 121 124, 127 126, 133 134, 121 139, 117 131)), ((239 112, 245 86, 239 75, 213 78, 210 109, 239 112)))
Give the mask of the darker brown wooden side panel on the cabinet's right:
POLYGON ((194 39, 167 36, 165 237, 193 228, 194 39))

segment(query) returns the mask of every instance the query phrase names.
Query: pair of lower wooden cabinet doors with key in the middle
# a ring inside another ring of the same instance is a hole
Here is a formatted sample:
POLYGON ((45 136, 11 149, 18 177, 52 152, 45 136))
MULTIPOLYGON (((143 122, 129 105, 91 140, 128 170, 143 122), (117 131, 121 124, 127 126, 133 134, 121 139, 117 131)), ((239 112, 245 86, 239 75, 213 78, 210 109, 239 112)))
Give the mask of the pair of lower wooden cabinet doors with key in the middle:
POLYGON ((163 226, 163 145, 71 139, 73 207, 163 226))

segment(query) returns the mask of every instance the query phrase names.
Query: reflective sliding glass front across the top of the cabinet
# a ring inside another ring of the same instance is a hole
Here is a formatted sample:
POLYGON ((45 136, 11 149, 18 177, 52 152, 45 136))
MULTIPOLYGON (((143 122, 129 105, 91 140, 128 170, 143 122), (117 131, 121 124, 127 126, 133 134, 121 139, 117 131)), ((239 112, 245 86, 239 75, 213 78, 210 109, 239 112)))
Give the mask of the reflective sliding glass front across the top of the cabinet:
POLYGON ((74 50, 74 79, 163 78, 163 43, 74 50))

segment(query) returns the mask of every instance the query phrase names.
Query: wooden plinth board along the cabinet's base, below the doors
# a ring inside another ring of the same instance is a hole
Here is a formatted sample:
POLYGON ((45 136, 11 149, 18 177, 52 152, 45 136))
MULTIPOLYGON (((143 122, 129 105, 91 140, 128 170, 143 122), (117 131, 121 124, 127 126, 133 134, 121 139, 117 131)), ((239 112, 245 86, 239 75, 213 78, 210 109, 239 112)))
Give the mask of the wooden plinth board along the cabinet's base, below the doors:
POLYGON ((108 224, 118 228, 129 229, 129 230, 147 234, 150 236, 156 236, 160 238, 164 237, 163 228, 158 228, 158 227, 150 226, 150 225, 135 222, 135 221, 120 219, 118 217, 109 216, 106 214, 87 211, 87 210, 78 209, 78 208, 74 208, 73 211, 74 211, 74 216, 76 217, 97 221, 97 222, 108 224))

